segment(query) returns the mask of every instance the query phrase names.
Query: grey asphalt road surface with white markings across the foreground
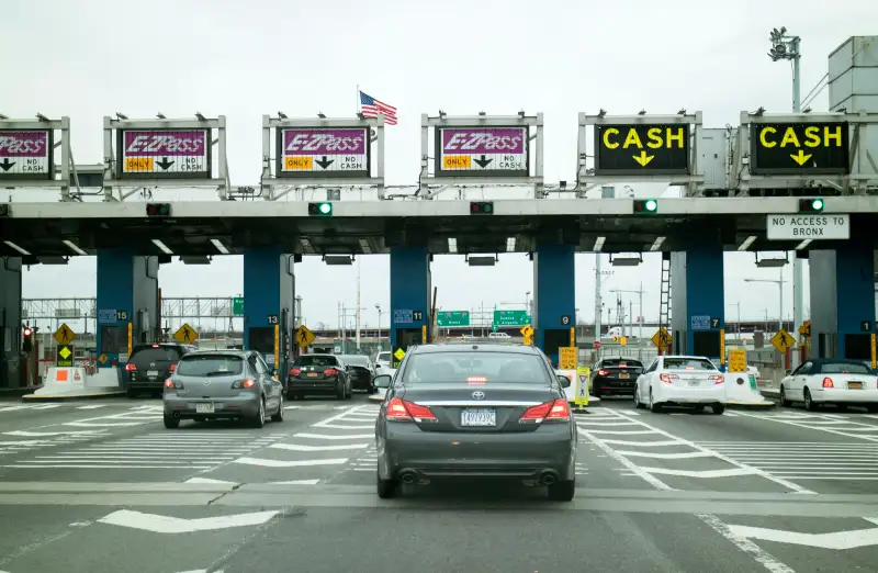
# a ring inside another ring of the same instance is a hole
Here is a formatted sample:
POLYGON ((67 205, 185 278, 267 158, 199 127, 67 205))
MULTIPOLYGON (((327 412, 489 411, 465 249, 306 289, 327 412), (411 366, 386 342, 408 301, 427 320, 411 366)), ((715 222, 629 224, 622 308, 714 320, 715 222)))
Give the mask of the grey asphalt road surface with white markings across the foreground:
POLYGON ((0 572, 864 572, 878 416, 577 415, 572 503, 515 484, 374 493, 375 403, 261 429, 161 424, 160 401, 0 403, 0 572))

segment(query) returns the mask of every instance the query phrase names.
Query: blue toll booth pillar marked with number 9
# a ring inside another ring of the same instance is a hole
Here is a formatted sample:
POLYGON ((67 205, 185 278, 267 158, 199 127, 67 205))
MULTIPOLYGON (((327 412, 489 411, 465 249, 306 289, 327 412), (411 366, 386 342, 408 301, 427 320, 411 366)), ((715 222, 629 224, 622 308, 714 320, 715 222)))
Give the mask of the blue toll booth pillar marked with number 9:
POLYGON ((559 348, 571 346, 571 329, 576 327, 574 248, 537 243, 533 252, 533 342, 555 367, 559 348))

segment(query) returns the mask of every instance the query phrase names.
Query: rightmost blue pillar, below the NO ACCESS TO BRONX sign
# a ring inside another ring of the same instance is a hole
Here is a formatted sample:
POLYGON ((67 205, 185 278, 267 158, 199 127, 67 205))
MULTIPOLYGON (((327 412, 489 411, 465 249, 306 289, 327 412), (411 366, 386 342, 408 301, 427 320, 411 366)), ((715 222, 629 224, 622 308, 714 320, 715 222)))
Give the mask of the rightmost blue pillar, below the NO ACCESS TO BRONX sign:
MULTIPOLYGON (((875 251, 848 240, 808 254, 812 358, 871 361, 875 329, 875 251)), ((799 339, 798 333, 793 333, 799 339)))

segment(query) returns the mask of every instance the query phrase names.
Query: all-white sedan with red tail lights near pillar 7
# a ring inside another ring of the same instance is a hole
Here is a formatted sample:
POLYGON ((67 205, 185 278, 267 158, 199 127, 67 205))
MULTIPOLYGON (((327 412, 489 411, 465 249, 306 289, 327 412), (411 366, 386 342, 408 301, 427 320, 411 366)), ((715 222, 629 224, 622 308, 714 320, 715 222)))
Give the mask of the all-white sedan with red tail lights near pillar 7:
POLYGON ((638 377, 634 406, 660 412, 662 406, 688 406, 713 414, 725 411, 725 377, 700 356, 660 356, 638 377))

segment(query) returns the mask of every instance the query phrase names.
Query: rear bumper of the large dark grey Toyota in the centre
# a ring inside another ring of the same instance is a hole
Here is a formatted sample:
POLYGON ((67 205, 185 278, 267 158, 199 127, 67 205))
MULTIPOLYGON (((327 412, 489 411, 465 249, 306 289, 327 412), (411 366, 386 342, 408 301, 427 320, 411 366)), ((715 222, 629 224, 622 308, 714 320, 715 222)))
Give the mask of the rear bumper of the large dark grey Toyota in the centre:
POLYGON ((575 478, 576 435, 567 424, 547 424, 532 432, 463 434, 423 431, 415 424, 387 423, 378 439, 379 473, 398 479, 498 478, 555 480, 575 478))

